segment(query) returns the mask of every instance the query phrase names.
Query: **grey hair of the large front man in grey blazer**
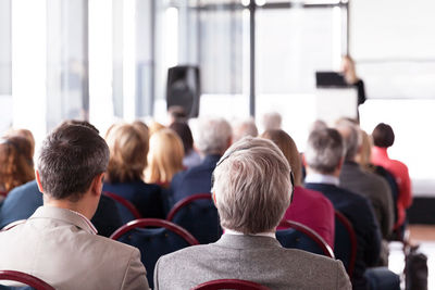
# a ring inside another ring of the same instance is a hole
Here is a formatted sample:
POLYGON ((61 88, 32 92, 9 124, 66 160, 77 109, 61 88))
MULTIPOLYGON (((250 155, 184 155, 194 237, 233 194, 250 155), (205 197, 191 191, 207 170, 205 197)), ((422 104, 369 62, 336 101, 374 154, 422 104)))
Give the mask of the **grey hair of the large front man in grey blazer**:
POLYGON ((274 230, 290 204, 290 165, 272 141, 246 137, 222 156, 212 192, 223 228, 274 230))

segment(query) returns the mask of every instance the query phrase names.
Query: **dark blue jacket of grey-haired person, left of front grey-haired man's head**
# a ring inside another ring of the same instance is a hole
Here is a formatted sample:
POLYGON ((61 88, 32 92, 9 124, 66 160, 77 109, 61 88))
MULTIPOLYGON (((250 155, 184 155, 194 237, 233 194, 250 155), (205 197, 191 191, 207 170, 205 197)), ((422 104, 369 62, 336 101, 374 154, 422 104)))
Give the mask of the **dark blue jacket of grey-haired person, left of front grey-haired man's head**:
POLYGON ((195 193, 211 191, 211 175, 221 155, 207 155, 201 164, 176 174, 172 178, 172 204, 195 193))

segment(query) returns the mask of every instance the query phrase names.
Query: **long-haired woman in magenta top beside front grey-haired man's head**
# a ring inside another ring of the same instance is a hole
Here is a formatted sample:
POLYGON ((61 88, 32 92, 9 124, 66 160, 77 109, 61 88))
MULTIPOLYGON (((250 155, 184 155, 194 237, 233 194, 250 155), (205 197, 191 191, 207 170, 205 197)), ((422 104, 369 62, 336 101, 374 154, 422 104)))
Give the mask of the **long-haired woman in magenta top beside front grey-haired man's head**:
POLYGON ((290 164, 295 177, 293 201, 285 212, 284 218, 310 227, 334 249, 334 206, 321 192, 302 187, 302 168, 300 165, 299 151, 295 141, 283 130, 266 130, 261 137, 273 141, 281 149, 290 164))

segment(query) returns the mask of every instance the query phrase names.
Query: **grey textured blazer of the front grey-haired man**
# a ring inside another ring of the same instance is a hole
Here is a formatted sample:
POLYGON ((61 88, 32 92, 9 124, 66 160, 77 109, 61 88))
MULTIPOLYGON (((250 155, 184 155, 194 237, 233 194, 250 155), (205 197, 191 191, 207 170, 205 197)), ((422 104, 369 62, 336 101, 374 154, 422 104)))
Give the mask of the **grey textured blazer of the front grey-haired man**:
POLYGON ((351 289, 339 261, 284 249, 276 239, 225 234, 215 242, 160 257, 156 290, 185 290, 214 279, 245 279, 271 289, 351 289))

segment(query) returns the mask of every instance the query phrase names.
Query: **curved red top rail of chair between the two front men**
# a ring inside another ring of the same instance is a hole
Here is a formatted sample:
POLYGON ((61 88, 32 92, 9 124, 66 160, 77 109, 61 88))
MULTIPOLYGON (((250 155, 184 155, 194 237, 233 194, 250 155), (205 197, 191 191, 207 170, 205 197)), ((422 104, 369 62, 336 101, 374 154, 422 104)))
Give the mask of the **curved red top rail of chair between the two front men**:
POLYGON ((126 232, 130 231, 132 229, 135 228, 146 228, 146 227, 162 227, 166 228, 178 236, 181 236, 183 239, 185 239, 190 245, 199 244, 198 240, 191 236, 190 232, 188 232, 186 229, 182 228, 178 225, 175 225, 174 223, 171 223, 165 219, 160 219, 160 218, 140 218, 140 219, 135 219, 126 225, 122 226, 121 228, 116 229, 112 236, 110 236, 111 239, 117 240, 120 237, 125 235, 126 232))

